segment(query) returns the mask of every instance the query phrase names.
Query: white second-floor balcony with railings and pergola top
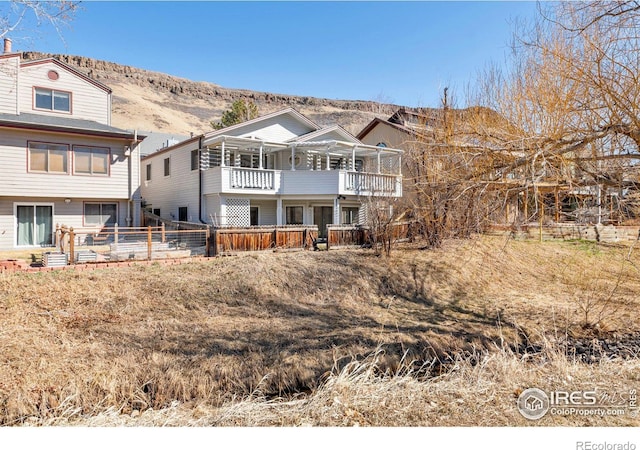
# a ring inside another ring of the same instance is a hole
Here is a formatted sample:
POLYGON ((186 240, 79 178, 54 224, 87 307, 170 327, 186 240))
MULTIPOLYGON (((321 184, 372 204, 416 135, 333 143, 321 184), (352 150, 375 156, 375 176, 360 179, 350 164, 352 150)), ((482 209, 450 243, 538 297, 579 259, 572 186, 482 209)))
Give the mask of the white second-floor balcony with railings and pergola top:
POLYGON ((222 136, 204 155, 204 194, 402 195, 399 150, 222 136))

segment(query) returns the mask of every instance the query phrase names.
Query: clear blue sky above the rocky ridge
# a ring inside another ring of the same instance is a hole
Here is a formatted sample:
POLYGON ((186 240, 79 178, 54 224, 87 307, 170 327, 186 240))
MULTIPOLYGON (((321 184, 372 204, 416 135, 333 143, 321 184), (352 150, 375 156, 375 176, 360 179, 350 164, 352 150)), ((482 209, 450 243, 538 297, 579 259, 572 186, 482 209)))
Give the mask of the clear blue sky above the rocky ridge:
MULTIPOLYGON (((490 61, 534 2, 83 2, 14 50, 113 61, 229 88, 437 106, 490 61)), ((31 30, 33 31, 33 29, 31 30)))

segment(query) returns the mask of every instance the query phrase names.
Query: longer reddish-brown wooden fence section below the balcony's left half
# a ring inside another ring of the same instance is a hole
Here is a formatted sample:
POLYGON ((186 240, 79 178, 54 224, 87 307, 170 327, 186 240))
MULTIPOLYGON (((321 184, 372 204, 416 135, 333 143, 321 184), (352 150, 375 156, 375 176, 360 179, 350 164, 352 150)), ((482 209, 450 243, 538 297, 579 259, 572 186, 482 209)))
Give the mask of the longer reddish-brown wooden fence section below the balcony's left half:
POLYGON ((216 256, 276 248, 309 249, 317 239, 316 225, 219 227, 211 231, 211 253, 216 256))

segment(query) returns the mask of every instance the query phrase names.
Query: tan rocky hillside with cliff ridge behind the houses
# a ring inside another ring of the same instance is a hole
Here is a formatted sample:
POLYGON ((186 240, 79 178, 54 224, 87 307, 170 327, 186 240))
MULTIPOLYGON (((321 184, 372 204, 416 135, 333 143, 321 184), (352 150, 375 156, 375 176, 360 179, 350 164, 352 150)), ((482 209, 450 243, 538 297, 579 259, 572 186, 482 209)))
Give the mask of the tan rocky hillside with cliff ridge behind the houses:
POLYGON ((388 117, 399 106, 373 101, 330 100, 227 89, 213 83, 99 61, 83 56, 24 52, 24 59, 55 57, 113 89, 116 127, 188 135, 211 129, 237 99, 256 103, 260 114, 294 107, 320 125, 339 124, 358 133, 374 117, 388 117))

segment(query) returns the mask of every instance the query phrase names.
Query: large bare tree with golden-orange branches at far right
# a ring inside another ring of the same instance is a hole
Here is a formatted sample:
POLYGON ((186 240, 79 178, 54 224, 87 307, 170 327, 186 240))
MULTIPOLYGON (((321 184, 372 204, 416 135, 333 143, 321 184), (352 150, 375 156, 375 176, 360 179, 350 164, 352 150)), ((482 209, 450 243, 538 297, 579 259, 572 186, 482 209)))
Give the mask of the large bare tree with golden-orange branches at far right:
POLYGON ((473 136, 483 147, 476 180, 519 198, 524 221, 542 222, 550 204, 554 219, 563 204, 573 220, 581 207, 591 222, 637 215, 640 7, 559 2, 541 12, 514 39, 508 71, 486 70, 471 99, 496 112, 477 108, 464 124, 464 145, 473 136))

